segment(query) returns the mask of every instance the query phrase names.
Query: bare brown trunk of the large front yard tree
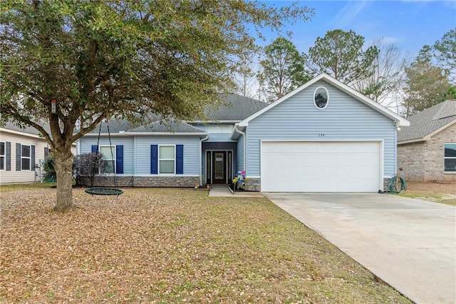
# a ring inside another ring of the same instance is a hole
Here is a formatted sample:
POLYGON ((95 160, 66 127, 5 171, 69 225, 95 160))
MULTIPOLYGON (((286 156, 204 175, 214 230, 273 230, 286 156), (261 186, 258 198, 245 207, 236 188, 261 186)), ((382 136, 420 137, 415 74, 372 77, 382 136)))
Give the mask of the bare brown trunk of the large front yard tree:
POLYGON ((55 151, 57 176, 57 203, 53 210, 65 212, 73 208, 73 154, 68 151, 55 151))

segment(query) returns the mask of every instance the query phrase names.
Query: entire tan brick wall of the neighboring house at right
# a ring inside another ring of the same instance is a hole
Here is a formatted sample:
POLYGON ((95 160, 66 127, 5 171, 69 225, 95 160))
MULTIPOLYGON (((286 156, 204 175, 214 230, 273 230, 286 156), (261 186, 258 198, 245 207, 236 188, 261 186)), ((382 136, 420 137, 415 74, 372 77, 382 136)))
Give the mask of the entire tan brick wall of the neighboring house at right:
POLYGON ((398 168, 403 168, 405 181, 455 182, 456 173, 444 172, 445 143, 456 143, 456 124, 430 141, 398 145, 398 168))

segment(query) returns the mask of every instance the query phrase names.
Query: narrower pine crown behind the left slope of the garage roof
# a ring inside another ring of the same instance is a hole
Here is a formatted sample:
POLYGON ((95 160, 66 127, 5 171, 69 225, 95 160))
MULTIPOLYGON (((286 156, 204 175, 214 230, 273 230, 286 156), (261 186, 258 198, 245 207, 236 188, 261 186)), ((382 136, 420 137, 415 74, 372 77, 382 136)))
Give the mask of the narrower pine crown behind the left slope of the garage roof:
POLYGON ((309 74, 304 70, 304 59, 294 44, 279 37, 264 48, 265 59, 260 62, 259 83, 266 91, 269 102, 293 91, 309 81, 309 74))

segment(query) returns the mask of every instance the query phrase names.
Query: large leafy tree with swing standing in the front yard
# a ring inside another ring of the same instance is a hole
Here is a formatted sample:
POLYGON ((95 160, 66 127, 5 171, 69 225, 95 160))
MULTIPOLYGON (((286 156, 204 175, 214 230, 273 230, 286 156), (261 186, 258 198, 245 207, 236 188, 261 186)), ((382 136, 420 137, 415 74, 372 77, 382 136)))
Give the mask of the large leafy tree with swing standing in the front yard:
POLYGON ((74 141, 105 118, 201 115, 233 86, 237 59, 255 48, 252 28, 278 30, 312 13, 242 0, 3 0, 1 121, 46 138, 56 158, 54 209, 66 211, 74 141))

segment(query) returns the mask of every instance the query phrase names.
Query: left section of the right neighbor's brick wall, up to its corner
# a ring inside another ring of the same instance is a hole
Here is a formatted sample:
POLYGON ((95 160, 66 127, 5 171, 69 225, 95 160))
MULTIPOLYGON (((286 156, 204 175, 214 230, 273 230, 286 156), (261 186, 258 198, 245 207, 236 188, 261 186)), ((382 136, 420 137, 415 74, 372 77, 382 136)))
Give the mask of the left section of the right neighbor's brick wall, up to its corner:
POLYGON ((405 181, 425 180, 426 146, 425 141, 398 145, 398 168, 403 168, 405 181))

